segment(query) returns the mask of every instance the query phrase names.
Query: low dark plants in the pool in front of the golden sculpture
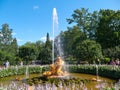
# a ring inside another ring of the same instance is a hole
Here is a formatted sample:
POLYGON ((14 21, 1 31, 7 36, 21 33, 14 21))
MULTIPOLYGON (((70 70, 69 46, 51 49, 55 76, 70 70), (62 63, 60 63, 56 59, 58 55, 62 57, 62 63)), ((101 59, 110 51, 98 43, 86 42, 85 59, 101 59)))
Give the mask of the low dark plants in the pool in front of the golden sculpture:
POLYGON ((55 84, 57 87, 60 87, 60 83, 64 87, 64 86, 71 86, 71 85, 73 85, 73 83, 74 83, 74 85, 77 86, 79 84, 88 83, 88 82, 90 82, 90 81, 87 79, 80 79, 80 78, 73 78, 73 77, 70 77, 68 79, 68 78, 48 78, 45 76, 40 76, 40 77, 35 77, 32 79, 27 79, 27 83, 29 85, 31 85, 31 84, 35 84, 35 85, 43 84, 44 85, 46 83, 49 83, 51 85, 55 84))

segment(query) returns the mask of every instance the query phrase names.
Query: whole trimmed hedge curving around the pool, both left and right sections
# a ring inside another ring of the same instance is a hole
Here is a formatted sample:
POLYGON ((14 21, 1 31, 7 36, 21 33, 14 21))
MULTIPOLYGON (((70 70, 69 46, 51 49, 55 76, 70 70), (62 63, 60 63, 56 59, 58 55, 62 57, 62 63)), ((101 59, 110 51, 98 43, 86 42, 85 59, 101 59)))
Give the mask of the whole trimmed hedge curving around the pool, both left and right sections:
MULTIPOLYGON (((28 71, 32 73, 43 73, 44 71, 49 71, 49 66, 28 66, 28 71)), ((120 66, 111 65, 99 65, 98 75, 103 77, 108 77, 111 79, 120 79, 120 66)), ((96 65, 67 65, 65 68, 69 70, 70 73, 85 73, 96 75, 96 65)), ((0 77, 7 77, 12 75, 22 75, 26 72, 26 66, 23 67, 10 67, 0 70, 0 77)))

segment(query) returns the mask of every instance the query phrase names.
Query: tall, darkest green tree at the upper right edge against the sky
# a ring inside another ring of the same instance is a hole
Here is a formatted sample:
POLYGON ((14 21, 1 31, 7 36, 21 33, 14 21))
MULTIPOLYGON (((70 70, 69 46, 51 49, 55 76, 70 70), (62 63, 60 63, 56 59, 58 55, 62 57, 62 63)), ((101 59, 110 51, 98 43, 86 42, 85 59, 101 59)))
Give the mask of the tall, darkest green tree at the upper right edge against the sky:
POLYGON ((100 21, 95 32, 96 41, 103 49, 120 44, 120 11, 100 10, 100 21))

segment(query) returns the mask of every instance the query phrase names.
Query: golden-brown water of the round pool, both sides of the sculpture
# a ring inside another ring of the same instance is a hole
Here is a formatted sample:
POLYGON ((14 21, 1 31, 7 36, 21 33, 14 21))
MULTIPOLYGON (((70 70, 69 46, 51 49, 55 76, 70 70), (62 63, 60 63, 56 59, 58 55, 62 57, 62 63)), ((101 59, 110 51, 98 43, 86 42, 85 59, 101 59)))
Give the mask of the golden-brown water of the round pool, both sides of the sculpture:
MULTIPOLYGON (((40 76, 41 76, 41 74, 30 74, 29 78, 40 77, 40 76)), ((62 78, 68 78, 69 79, 69 77, 80 78, 82 80, 90 80, 90 82, 85 83, 85 86, 88 88, 88 90, 89 89, 97 90, 100 87, 108 87, 108 86, 111 87, 116 82, 115 80, 112 80, 112 79, 109 79, 109 78, 97 77, 97 78, 99 78, 98 80, 100 80, 100 82, 98 82, 97 80, 93 80, 93 78, 96 79, 95 75, 79 74, 79 73, 70 73, 69 76, 62 77, 62 78)), ((9 85, 13 81, 15 83, 23 84, 21 79, 25 79, 25 75, 4 77, 4 78, 0 78, 0 84, 9 85), (16 78, 20 78, 20 81, 16 80, 16 78)))

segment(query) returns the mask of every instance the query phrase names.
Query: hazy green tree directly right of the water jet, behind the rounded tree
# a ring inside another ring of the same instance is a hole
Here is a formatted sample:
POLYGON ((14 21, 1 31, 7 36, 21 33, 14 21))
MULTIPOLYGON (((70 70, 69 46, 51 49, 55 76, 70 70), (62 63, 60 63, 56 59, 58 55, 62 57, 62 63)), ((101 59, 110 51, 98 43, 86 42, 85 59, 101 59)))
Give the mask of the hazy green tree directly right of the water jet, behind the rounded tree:
POLYGON ((78 26, 68 28, 68 31, 62 33, 61 37, 63 38, 62 43, 65 57, 73 57, 73 53, 75 52, 74 48, 77 45, 76 43, 87 38, 86 35, 80 31, 78 26))

